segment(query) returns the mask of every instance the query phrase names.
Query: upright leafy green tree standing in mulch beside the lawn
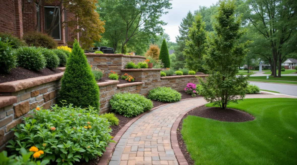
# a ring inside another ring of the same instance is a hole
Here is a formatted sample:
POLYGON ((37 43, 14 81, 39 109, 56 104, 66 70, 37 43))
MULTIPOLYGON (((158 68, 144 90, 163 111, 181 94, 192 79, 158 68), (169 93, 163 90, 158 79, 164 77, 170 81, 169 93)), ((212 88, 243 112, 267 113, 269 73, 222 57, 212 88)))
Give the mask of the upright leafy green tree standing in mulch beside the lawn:
POLYGON ((244 34, 241 29, 241 17, 235 18, 235 5, 231 1, 220 1, 217 23, 208 40, 205 67, 211 72, 206 82, 200 79, 202 95, 214 105, 226 109, 231 102, 237 103, 245 97, 247 77, 236 76, 238 66, 243 62, 249 41, 239 43, 244 34))

